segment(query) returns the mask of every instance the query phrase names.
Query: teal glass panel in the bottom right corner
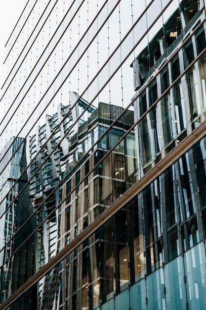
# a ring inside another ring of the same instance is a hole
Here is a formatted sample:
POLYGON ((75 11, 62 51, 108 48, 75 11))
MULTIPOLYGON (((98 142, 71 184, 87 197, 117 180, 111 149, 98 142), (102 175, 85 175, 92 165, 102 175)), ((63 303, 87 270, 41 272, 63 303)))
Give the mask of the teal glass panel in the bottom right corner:
POLYGON ((205 309, 206 255, 203 242, 185 253, 184 264, 189 309, 205 309))

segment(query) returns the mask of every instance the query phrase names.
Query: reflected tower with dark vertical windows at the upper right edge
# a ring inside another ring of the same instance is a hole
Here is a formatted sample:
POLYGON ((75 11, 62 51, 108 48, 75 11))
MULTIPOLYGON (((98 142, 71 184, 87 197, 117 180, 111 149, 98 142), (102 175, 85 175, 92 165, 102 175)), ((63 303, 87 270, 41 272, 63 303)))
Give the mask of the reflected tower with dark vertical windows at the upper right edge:
POLYGON ((190 35, 194 22, 203 18, 201 5, 201 1, 182 1, 132 63, 135 90, 153 77, 134 103, 136 117, 141 119, 138 144, 144 149, 139 155, 140 173, 150 170, 205 120, 205 55, 192 64, 206 45, 204 27, 190 35), (188 65, 191 68, 178 78, 188 65))

